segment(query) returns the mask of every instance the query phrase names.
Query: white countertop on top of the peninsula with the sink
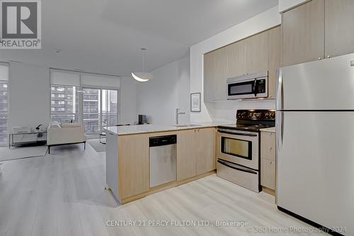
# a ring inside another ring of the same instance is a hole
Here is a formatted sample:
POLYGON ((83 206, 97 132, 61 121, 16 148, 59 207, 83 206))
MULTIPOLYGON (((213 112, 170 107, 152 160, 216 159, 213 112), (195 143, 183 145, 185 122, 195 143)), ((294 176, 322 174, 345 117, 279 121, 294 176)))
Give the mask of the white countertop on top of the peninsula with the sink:
POLYGON ((175 130, 190 130, 198 128, 216 127, 217 125, 227 125, 221 122, 207 122, 207 123, 192 123, 195 126, 176 127, 173 125, 125 125, 125 126, 110 126, 105 130, 110 131, 116 135, 134 135, 137 133, 154 133, 175 130))

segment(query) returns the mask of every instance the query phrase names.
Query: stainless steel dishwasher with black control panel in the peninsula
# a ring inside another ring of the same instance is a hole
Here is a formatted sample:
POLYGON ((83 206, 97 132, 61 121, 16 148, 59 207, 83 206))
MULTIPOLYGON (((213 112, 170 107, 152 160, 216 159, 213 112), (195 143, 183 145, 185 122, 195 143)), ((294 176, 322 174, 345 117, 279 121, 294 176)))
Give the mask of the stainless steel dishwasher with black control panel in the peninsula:
POLYGON ((176 180, 177 135, 149 138, 150 187, 176 180))

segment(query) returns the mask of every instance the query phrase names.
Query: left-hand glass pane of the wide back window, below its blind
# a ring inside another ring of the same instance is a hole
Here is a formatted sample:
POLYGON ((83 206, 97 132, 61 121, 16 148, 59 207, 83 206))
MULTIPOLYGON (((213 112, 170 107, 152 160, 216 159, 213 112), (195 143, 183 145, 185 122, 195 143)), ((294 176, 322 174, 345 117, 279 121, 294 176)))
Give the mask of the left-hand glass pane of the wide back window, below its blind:
POLYGON ((52 107, 50 109, 52 120, 61 122, 79 122, 79 110, 76 86, 52 85, 52 107))

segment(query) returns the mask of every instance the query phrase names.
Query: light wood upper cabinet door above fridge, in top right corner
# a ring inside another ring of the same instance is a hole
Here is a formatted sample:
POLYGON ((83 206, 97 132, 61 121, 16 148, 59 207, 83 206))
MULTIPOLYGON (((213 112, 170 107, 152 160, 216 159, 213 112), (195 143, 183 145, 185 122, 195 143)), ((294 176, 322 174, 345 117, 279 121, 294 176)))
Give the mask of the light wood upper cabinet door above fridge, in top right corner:
POLYGON ((325 0, 326 57, 354 52, 354 1, 325 0))

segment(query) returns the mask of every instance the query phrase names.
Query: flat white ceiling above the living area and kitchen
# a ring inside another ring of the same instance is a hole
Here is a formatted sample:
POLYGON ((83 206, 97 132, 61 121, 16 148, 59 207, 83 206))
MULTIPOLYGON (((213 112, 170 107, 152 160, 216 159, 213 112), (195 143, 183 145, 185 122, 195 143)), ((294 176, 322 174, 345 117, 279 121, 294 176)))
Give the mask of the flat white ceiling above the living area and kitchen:
POLYGON ((0 60, 127 75, 189 54, 189 47, 278 0, 42 0, 42 50, 0 50, 0 60), (61 49, 59 54, 57 49, 61 49))

